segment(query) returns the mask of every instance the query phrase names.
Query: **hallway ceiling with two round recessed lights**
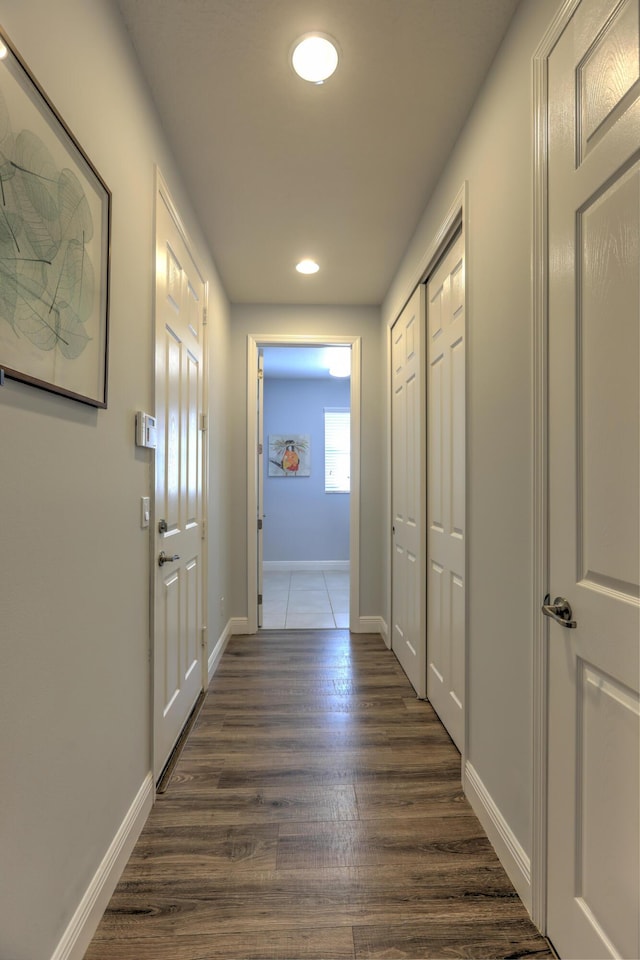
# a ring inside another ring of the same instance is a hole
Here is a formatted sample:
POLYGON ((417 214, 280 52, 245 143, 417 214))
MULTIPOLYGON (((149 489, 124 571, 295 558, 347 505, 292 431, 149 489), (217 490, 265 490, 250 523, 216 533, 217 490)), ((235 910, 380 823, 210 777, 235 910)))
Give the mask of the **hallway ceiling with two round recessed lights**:
POLYGON ((233 303, 379 304, 518 0, 115 0, 233 303), (320 30, 321 86, 289 65, 320 30), (294 270, 313 257, 320 273, 294 270))

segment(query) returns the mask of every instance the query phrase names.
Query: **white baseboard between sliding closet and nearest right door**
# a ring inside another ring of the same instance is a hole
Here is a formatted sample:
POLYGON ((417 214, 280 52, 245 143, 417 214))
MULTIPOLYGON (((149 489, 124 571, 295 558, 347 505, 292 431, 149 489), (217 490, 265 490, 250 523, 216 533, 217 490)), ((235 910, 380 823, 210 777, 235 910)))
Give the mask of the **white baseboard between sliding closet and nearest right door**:
POLYGON ((498 859, 531 913, 531 862, 513 830, 496 806, 489 791, 467 760, 464 766, 464 792, 478 820, 484 827, 498 859))

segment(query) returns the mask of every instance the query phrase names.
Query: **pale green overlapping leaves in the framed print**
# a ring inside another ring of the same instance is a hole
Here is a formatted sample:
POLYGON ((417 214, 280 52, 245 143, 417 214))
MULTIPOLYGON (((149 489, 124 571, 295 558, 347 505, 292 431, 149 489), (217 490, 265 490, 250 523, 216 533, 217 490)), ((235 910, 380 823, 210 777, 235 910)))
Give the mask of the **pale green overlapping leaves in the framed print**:
POLYGON ((0 320, 69 360, 91 339, 93 230, 77 176, 56 165, 37 134, 14 135, 0 92, 0 320))

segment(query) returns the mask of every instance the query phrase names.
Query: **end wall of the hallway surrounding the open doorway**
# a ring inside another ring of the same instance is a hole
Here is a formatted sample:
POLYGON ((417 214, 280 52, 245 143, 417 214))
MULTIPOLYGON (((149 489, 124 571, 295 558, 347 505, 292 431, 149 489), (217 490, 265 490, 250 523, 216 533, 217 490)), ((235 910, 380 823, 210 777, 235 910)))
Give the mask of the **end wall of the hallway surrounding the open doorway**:
MULTIPOLYGON (((231 365, 235 372, 229 386, 230 431, 246 436, 247 336, 359 336, 362 338, 362 420, 360 488, 360 615, 378 616, 383 583, 382 542, 384 517, 383 422, 384 349, 377 307, 295 307, 234 305, 231 309, 231 365)), ((246 445, 245 445, 246 447, 246 445)), ((230 506, 235 536, 231 541, 234 616, 247 616, 247 456, 234 448, 230 506)), ((353 576, 352 571, 352 576, 353 576)))

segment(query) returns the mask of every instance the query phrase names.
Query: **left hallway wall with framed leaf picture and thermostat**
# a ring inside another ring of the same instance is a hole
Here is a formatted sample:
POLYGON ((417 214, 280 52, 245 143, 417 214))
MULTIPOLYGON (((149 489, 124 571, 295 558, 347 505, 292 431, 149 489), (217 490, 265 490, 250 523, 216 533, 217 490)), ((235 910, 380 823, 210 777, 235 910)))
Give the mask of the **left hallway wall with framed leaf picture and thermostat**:
MULTIPOLYGON (((154 165, 211 282, 221 405, 227 305, 109 0, 2 0, 3 28, 113 194, 109 406, 0 388, 0 956, 47 960, 150 771, 154 165)), ((0 320, 0 322, 2 322, 0 320)), ((224 408, 211 417, 211 513, 227 496, 224 408)), ((228 593, 224 520, 211 591, 228 593)), ((214 615, 215 615, 214 609, 214 615)), ((210 621, 210 638, 220 624, 210 621)))

